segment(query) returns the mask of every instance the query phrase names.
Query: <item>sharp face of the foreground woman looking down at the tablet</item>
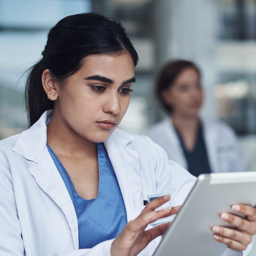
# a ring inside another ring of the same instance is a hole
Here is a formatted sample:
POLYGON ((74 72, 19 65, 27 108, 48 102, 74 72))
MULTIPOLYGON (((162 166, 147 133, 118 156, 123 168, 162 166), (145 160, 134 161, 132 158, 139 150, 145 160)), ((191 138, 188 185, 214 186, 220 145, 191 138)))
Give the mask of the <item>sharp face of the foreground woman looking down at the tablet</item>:
POLYGON ((129 53, 90 55, 79 71, 57 84, 54 114, 69 130, 81 137, 103 142, 121 122, 135 82, 134 63, 129 53))

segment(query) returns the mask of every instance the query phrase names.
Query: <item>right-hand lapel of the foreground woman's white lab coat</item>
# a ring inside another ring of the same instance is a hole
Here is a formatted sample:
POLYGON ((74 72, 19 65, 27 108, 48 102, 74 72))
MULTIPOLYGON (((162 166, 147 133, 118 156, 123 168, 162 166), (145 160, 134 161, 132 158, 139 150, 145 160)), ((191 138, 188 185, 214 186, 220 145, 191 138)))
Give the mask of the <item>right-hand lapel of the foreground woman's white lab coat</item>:
POLYGON ((130 221, 137 218, 142 209, 139 152, 122 142, 110 137, 104 144, 124 199, 127 221, 130 221))

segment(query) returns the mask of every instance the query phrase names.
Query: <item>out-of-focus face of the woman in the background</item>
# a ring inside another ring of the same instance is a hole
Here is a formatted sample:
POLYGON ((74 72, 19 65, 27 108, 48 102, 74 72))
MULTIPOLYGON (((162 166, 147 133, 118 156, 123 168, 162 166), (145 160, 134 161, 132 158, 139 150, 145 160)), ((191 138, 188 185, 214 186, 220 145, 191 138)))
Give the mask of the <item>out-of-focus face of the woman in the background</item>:
POLYGON ((172 114, 197 116, 203 103, 203 90, 196 69, 184 69, 162 96, 172 107, 172 114))

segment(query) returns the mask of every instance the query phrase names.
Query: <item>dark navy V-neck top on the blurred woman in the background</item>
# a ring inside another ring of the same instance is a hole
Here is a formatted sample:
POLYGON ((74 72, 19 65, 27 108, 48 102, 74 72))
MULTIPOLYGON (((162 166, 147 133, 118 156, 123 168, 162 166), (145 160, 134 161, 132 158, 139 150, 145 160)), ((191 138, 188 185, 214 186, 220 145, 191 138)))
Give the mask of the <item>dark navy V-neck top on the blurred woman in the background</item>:
POLYGON ((180 133, 178 132, 177 129, 176 129, 176 132, 178 134, 180 144, 183 149, 183 153, 187 160, 188 171, 196 177, 198 177, 202 173, 210 173, 211 168, 208 160, 207 149, 205 147, 204 136, 203 136, 204 131, 203 131, 202 124, 200 123, 199 125, 195 148, 192 151, 188 151, 186 149, 183 143, 183 140, 180 136, 180 133))

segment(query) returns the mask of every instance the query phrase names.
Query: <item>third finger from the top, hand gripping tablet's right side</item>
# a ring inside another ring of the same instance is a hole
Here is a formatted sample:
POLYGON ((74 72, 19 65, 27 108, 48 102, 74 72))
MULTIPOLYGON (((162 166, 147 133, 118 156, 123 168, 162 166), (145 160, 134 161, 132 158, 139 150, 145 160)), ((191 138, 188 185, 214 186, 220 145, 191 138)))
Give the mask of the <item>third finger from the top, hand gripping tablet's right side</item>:
POLYGON ((236 240, 237 242, 239 242, 243 245, 246 245, 246 246, 248 244, 252 243, 251 235, 249 235, 247 233, 243 233, 237 229, 215 226, 212 228, 212 232, 215 235, 225 236, 226 238, 236 240))

